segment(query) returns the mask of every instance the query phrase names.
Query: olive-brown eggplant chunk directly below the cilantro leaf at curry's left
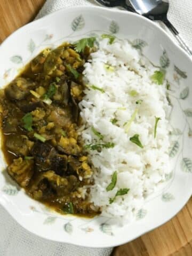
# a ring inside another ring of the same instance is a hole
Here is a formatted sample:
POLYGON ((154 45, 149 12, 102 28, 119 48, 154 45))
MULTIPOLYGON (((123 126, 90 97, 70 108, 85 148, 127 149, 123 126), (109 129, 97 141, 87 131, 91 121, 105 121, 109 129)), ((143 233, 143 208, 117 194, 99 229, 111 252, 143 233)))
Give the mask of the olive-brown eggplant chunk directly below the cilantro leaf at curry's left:
POLYGON ((34 142, 30 141, 26 135, 9 135, 6 139, 6 147, 14 155, 27 156, 34 142))

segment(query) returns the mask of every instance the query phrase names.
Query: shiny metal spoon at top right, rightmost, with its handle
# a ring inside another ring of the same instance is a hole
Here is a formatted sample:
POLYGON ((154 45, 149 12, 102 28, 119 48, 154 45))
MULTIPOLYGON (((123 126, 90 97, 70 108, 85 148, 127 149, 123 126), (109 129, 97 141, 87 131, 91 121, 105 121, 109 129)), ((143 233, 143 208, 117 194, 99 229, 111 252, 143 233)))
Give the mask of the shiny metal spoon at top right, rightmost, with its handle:
POLYGON ((150 20, 161 20, 171 30, 175 38, 177 38, 179 44, 189 55, 192 55, 192 51, 189 46, 183 41, 179 35, 178 30, 167 19, 167 12, 169 9, 169 0, 130 0, 131 5, 135 11, 150 20))

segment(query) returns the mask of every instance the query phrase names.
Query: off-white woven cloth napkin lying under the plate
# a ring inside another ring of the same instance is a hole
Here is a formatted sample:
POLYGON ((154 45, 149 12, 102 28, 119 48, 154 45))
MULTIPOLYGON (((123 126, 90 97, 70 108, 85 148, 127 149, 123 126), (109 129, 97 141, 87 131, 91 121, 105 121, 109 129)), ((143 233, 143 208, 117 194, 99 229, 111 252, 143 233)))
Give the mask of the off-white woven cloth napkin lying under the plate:
MULTIPOLYGON (((192 48, 192 1, 170 0, 169 2, 168 18, 192 48)), ((97 3, 94 0, 47 0, 37 18, 63 7, 77 5, 88 6, 97 5, 97 3)), ((161 22, 159 25, 169 33, 161 22)), ((0 206, 0 256, 109 256, 112 250, 113 248, 91 249, 40 238, 22 228, 0 206)))

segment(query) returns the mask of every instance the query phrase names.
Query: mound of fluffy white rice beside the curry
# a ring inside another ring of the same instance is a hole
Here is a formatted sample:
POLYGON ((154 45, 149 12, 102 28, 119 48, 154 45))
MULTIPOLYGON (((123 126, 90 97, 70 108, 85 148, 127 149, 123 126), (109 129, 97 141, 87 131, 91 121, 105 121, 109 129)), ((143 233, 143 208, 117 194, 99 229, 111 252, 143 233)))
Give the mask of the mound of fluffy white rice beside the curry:
POLYGON ((85 63, 84 76, 89 86, 85 97, 79 103, 81 116, 85 124, 82 132, 85 145, 113 142, 114 148, 102 148, 101 152, 88 149, 94 167, 94 185, 91 186, 91 201, 100 206, 102 215, 130 221, 141 209, 146 196, 153 193, 158 183, 165 180, 170 172, 169 166, 169 124, 166 113, 170 106, 166 99, 166 82, 157 85, 151 81, 155 68, 143 58, 129 42, 116 39, 113 44, 108 39, 99 41, 99 50, 91 54, 92 60, 85 63), (114 71, 106 66, 114 67, 114 71), (130 91, 137 91, 134 97, 130 91), (136 104, 142 100, 141 104, 136 104), (135 109, 138 113, 125 132, 127 121, 135 109), (155 117, 161 117, 154 138, 155 117), (116 118, 116 124, 111 119, 116 118), (103 140, 91 130, 103 135, 103 140), (139 134, 143 148, 130 141, 130 137, 139 134), (113 173, 117 171, 117 183, 113 190, 106 191, 113 173), (117 190, 129 188, 124 196, 115 197, 117 190))

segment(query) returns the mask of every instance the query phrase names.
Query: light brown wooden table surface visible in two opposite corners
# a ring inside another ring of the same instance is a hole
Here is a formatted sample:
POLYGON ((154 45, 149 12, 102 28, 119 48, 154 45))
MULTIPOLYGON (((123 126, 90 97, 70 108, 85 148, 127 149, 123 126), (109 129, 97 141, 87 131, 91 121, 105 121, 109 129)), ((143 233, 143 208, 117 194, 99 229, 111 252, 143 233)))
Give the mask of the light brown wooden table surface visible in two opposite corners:
MULTIPOLYGON (((0 42, 15 29, 32 21, 44 2, 0 0, 0 42)), ((192 198, 172 220, 130 243, 116 247, 113 252, 113 256, 140 255, 192 256, 192 198)))

